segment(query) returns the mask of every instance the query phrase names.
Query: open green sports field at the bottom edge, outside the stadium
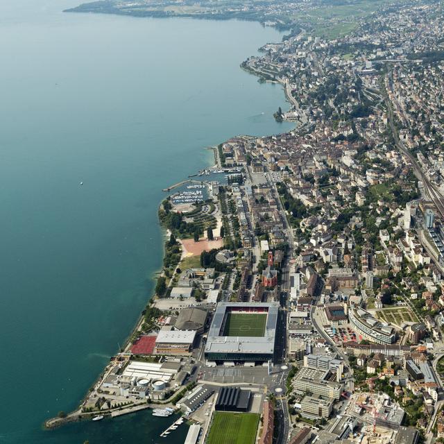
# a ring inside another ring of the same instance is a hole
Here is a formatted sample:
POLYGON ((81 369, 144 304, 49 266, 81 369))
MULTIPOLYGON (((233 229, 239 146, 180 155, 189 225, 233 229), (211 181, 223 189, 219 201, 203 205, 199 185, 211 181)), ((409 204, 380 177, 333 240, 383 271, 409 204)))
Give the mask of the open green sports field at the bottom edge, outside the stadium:
POLYGON ((254 444, 259 415, 215 411, 207 444, 254 444))

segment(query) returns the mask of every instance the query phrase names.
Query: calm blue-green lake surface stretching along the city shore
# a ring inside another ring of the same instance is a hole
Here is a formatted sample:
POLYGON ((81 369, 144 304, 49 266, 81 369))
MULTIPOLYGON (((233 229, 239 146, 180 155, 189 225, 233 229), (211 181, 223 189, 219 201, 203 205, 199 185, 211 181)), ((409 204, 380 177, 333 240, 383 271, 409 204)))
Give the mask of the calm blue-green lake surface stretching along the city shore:
POLYGON ((146 411, 41 425, 78 405, 146 304, 161 189, 212 162, 205 146, 291 128, 273 119, 282 88, 239 68, 282 36, 61 12, 76 4, 0 2, 0 443, 155 443, 171 418, 146 411))

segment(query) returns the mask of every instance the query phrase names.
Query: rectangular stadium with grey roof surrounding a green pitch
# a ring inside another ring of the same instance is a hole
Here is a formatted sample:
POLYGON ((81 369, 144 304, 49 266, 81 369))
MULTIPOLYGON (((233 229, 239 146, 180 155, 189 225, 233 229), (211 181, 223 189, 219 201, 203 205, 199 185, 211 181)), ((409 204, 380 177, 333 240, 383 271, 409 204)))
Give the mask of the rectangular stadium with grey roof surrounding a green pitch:
POLYGON ((279 304, 220 302, 205 345, 207 361, 273 361, 279 304))

